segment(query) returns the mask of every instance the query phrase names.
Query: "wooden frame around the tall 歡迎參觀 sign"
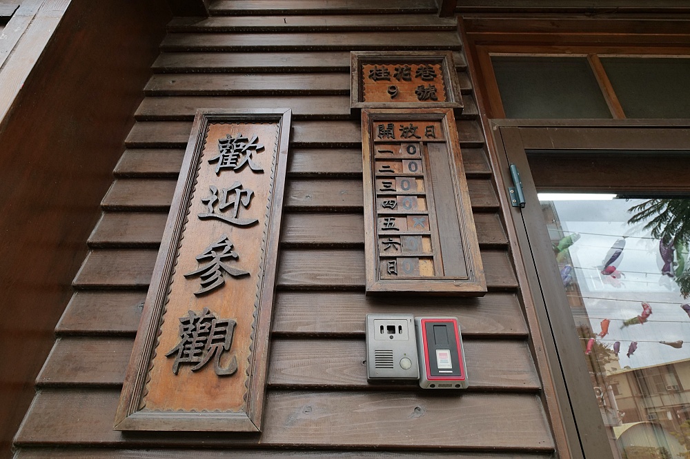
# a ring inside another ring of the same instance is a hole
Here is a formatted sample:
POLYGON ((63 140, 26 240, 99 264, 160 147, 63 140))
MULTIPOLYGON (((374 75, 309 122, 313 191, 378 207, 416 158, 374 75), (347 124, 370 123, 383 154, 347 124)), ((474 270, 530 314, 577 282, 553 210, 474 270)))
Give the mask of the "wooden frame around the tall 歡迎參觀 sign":
POLYGON ((261 430, 268 336, 275 291, 276 263, 283 191, 287 168, 291 110, 197 110, 187 144, 181 174, 175 187, 163 242, 153 272, 144 314, 139 324, 124 387, 115 417, 115 430, 149 431, 247 431, 261 430), (259 261, 257 298, 250 338, 250 366, 246 377, 244 412, 233 411, 149 411, 142 401, 146 396, 147 378, 155 356, 159 330, 165 314, 172 274, 175 272, 179 245, 195 192, 199 160, 204 150, 208 128, 212 123, 277 123, 277 139, 270 181, 273 184, 266 208, 262 255, 259 261), (277 155, 277 158, 275 157, 277 155))

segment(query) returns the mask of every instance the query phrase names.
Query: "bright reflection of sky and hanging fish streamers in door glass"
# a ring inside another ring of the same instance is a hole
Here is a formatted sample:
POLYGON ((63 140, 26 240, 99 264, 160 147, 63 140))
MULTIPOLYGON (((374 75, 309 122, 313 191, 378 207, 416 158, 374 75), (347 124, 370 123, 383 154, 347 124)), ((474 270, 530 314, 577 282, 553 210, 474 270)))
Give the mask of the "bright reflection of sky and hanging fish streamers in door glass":
POLYGON ((541 198, 594 394, 625 459, 690 458, 690 198, 541 198))

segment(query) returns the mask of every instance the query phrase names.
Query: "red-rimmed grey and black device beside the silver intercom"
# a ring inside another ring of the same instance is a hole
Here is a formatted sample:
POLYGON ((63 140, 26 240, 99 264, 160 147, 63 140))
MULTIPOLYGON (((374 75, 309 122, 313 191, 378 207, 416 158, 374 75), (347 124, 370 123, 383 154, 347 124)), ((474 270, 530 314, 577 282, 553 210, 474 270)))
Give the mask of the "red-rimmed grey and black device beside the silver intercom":
POLYGON ((460 327, 455 317, 417 317, 420 387, 465 389, 467 369, 460 327))

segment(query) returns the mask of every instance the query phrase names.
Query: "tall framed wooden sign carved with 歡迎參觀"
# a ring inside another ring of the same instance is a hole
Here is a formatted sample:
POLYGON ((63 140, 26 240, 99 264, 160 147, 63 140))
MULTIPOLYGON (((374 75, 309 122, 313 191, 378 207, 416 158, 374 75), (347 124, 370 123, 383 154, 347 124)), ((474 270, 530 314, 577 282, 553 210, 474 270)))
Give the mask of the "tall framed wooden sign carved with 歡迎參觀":
POLYGON ((289 129, 197 111, 115 429, 261 429, 289 129))

